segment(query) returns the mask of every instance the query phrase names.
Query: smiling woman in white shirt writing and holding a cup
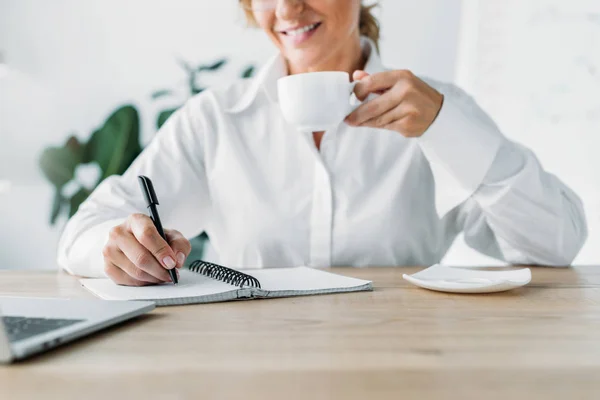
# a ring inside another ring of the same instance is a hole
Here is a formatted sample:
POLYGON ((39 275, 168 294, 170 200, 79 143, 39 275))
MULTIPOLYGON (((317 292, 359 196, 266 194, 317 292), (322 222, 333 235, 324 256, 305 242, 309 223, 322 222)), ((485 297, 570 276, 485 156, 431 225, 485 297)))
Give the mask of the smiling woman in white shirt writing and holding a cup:
POLYGON ((122 177, 105 180, 65 229, 63 268, 124 285, 169 281, 186 237, 201 232, 234 268, 430 265, 461 231, 509 263, 573 260, 587 235, 575 193, 458 88, 384 69, 360 0, 240 3, 279 54, 254 79, 192 98, 122 177), (296 132, 276 81, 324 70, 349 72, 368 99, 337 129, 296 132), (154 181, 168 243, 138 175, 154 181))

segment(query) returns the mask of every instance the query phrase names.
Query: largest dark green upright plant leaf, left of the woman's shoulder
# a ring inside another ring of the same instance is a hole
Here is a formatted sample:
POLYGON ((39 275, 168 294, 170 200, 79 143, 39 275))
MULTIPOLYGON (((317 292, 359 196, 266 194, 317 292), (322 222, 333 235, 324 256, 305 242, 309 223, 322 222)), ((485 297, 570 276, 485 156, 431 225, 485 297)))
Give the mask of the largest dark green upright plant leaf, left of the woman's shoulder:
POLYGON ((98 183, 111 175, 121 175, 141 153, 138 112, 131 105, 113 112, 92 134, 84 149, 83 161, 96 162, 102 174, 98 183))

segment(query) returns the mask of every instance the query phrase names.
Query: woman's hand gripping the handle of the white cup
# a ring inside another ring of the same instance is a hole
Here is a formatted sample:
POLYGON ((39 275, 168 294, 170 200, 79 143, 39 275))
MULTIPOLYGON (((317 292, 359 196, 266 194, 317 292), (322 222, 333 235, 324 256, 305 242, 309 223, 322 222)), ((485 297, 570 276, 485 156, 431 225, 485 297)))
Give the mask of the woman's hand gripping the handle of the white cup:
POLYGON ((431 126, 442 108, 444 96, 410 71, 385 71, 369 75, 355 71, 359 82, 354 94, 364 100, 371 93, 380 96, 362 104, 345 119, 351 126, 396 131, 405 137, 419 137, 431 126))

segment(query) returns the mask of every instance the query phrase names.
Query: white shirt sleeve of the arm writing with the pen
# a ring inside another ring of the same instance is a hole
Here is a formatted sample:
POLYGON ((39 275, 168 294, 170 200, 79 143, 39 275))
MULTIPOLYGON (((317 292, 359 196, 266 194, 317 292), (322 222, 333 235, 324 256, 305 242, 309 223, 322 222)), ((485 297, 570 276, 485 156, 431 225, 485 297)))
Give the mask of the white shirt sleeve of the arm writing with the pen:
POLYGON ((195 97, 169 118, 122 176, 98 185, 63 231, 60 267, 75 275, 105 277, 102 248, 110 229, 133 213, 147 214, 138 175, 152 179, 165 228, 186 237, 205 230, 211 213, 201 114, 195 97))

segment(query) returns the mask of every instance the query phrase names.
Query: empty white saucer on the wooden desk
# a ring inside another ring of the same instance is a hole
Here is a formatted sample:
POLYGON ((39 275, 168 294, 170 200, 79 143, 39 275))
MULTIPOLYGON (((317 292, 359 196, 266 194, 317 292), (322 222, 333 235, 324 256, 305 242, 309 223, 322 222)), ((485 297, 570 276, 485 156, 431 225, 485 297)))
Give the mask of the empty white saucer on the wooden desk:
POLYGON ((531 282, 531 270, 482 271, 436 264, 404 279, 419 287, 452 293, 503 292, 531 282))

